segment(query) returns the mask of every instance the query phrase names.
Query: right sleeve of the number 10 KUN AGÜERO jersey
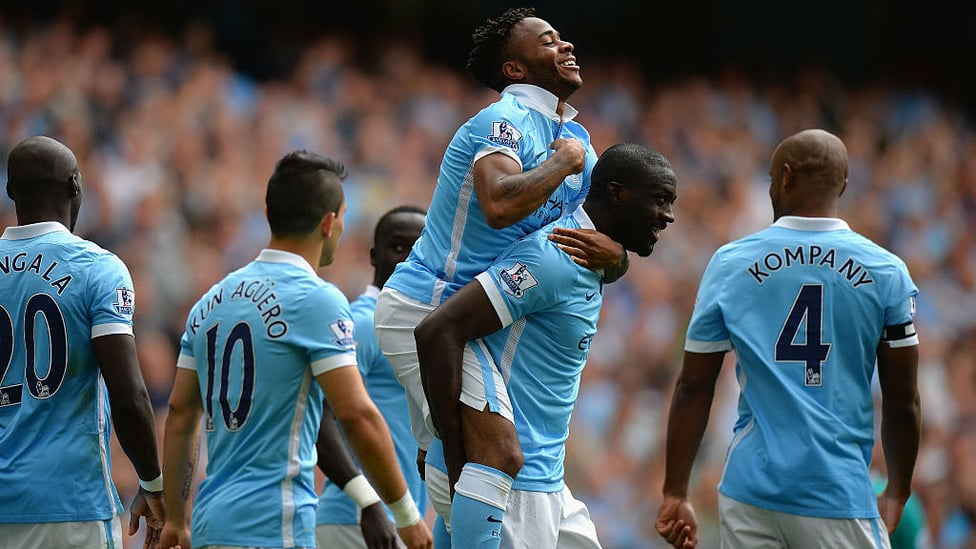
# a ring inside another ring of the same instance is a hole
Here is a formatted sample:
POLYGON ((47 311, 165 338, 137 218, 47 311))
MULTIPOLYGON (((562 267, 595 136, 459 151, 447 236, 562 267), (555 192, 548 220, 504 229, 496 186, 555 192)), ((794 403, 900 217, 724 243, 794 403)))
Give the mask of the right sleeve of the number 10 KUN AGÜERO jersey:
POLYGON ((305 296, 292 341, 308 352, 312 373, 356 365, 355 324, 349 301, 334 286, 317 286, 305 296))

